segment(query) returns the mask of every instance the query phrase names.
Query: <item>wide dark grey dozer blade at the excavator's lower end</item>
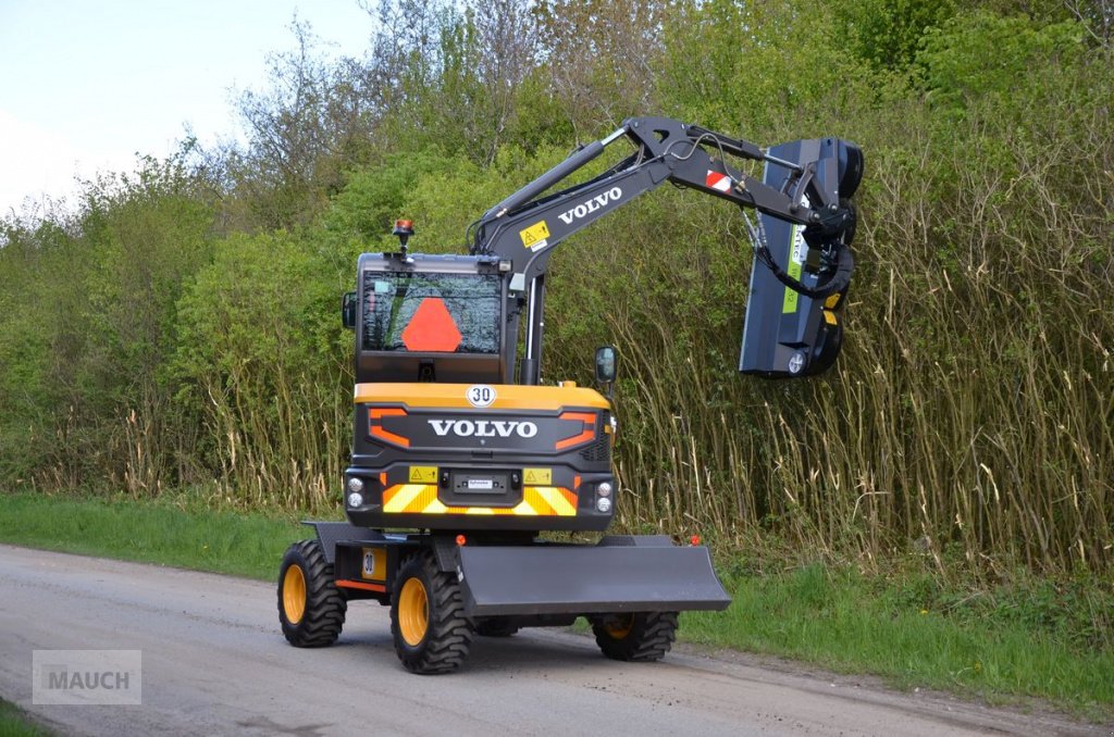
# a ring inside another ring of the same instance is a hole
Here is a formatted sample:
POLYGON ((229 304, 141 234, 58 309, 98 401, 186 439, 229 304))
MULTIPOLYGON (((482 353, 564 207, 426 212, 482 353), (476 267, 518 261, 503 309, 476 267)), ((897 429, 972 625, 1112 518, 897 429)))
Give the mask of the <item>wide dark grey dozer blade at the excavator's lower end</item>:
POLYGON ((719 611, 731 603, 701 547, 463 546, 460 569, 466 612, 475 617, 719 611))

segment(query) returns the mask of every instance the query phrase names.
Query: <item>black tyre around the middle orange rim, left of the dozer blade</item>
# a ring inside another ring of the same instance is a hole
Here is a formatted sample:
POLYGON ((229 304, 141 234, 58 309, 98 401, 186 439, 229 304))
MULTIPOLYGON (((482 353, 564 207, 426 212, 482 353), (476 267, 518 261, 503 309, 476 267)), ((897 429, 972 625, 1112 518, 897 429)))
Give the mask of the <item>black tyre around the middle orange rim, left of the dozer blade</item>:
POLYGON ((391 593, 391 636, 394 651, 410 672, 421 675, 456 670, 468 657, 476 629, 465 617, 465 597, 452 573, 438 570, 429 551, 411 557, 399 569, 391 593), (407 581, 417 579, 427 597, 427 627, 420 641, 411 645, 402 636, 399 601, 407 581))

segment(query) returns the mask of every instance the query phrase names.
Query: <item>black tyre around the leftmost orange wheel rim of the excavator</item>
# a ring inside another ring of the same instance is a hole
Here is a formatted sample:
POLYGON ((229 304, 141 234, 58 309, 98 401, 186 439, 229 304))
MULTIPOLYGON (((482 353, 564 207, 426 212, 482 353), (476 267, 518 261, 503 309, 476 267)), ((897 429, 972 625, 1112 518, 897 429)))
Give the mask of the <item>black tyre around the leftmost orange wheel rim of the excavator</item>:
POLYGON ((348 601, 333 581, 333 566, 325 558, 321 542, 300 540, 292 543, 278 569, 278 621, 286 641, 299 648, 332 645, 344 628, 346 611, 348 601), (294 599, 302 600, 303 611, 297 621, 292 621, 283 601, 287 581, 296 580, 296 573, 287 576, 292 567, 301 570, 305 589, 304 597, 292 590, 294 599))

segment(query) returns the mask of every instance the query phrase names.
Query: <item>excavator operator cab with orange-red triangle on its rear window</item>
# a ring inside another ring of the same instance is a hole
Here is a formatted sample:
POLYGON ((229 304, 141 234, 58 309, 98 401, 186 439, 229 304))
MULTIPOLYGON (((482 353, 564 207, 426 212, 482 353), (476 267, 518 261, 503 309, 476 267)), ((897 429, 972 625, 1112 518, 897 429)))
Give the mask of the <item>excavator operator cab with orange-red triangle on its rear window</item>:
POLYGON ((500 383, 507 281, 491 256, 363 254, 344 323, 355 381, 500 383))

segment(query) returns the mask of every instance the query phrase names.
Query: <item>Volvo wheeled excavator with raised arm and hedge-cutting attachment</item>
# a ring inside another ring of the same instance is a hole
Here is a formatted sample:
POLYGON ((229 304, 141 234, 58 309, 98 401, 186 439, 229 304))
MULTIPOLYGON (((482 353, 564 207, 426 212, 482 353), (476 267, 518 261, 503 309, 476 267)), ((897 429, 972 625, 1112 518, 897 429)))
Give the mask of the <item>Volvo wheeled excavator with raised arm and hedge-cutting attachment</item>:
POLYGON ((342 301, 355 333, 348 521, 310 522, 316 535, 286 551, 286 639, 330 645, 349 602, 371 599, 390 607, 394 649, 418 674, 458 668, 477 635, 578 617, 605 656, 657 660, 680 611, 726 608, 700 544, 544 539, 603 532, 618 501, 615 351, 596 354, 602 391, 539 382, 549 256, 666 183, 727 200, 743 208, 753 245, 740 371, 817 374, 842 343, 861 176, 862 154, 847 140, 761 148, 673 119, 632 118, 485 213, 467 234, 468 255, 411 253, 413 225, 399 220, 400 250, 363 254, 342 301), (619 140, 633 144, 629 156, 560 188, 619 140), (735 159, 761 161, 762 180, 735 159))

